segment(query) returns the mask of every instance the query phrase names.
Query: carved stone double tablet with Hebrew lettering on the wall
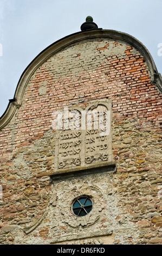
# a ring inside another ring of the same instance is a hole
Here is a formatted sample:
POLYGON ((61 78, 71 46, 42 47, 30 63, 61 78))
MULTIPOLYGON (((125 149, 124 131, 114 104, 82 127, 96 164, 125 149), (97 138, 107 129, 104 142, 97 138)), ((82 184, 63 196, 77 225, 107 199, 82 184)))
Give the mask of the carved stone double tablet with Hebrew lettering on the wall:
POLYGON ((55 113, 55 172, 93 168, 111 162, 111 121, 111 101, 96 101, 86 109, 65 108, 55 113))

